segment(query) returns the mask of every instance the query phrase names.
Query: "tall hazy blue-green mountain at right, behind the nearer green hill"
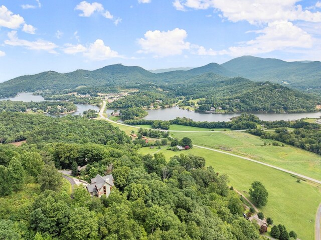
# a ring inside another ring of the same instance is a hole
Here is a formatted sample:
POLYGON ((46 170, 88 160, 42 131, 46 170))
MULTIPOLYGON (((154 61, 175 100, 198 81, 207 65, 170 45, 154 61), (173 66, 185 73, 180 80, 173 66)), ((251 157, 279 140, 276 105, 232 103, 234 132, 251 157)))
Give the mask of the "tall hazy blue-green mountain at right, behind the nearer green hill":
POLYGON ((271 81, 299 89, 321 87, 321 62, 285 62, 243 56, 224 64, 224 68, 253 81, 271 81))

